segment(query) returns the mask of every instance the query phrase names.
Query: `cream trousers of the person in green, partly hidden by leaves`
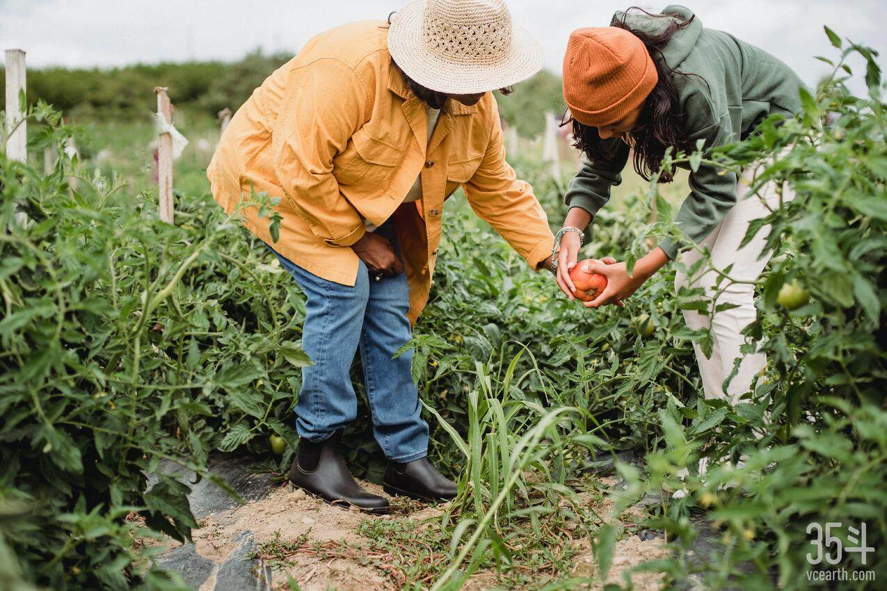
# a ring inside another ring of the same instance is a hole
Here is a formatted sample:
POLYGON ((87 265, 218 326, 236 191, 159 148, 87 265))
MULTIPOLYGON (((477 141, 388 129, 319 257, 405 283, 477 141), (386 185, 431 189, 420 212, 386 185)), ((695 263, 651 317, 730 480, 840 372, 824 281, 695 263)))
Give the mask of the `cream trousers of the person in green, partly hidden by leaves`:
MULTIPOLYGON (((757 310, 755 309, 755 286, 752 284, 729 284, 728 280, 722 280, 718 292, 715 287, 718 274, 712 268, 725 271, 731 264, 733 268, 726 275, 737 281, 755 281, 764 270, 770 260, 771 253, 764 254, 766 237, 770 233, 770 226, 765 226, 757 231, 751 241, 742 248, 739 245, 745 237, 746 231, 753 220, 770 214, 770 209, 777 209, 780 202, 787 202, 794 197, 788 186, 783 188, 780 198, 779 185, 767 183, 752 193, 750 185, 759 167, 748 167, 736 184, 736 205, 726 214, 724 220, 711 232, 709 237, 703 240, 700 247, 708 247, 711 261, 703 264, 695 276, 687 277, 683 272, 675 277, 675 289, 683 286, 701 287, 705 291, 705 297, 710 299, 710 311, 719 304, 734 304, 734 308, 711 315, 696 310, 684 310, 684 319, 692 330, 707 329, 711 327, 713 346, 710 357, 703 354, 702 347, 694 343, 696 360, 699 362, 699 373, 703 379, 705 398, 727 398, 735 405, 757 385, 757 379, 764 373, 766 356, 762 353, 745 354, 742 356, 740 347, 745 343, 742 329, 754 322, 757 310), (768 209, 768 207, 770 209, 768 209), (734 362, 742 357, 738 373, 724 389, 724 381, 733 373, 734 362)), ((702 258, 702 254, 695 250, 687 251, 680 255, 680 261, 689 271, 695 262, 702 258)))

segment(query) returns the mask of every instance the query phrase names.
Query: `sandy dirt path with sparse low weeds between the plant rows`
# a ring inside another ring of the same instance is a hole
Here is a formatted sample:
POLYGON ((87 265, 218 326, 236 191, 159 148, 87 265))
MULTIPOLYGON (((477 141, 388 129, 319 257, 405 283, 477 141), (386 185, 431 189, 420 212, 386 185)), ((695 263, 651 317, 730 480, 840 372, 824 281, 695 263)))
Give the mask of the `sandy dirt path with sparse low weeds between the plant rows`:
MULTIPOLYGON (((360 484, 374 494, 382 494, 380 486, 360 484)), ((583 498, 590 504, 596 503, 594 509, 600 515, 607 514, 607 501, 601 502, 599 496, 597 501, 591 496, 583 498)), ((289 485, 275 486, 256 501, 209 515, 200 529, 194 531, 196 555, 207 559, 209 564, 216 564, 200 584, 199 591, 228 591, 226 587, 230 584, 223 586, 216 574, 220 568, 224 570, 224 564, 236 561, 243 564, 247 558, 255 559, 251 569, 258 579, 257 589, 288 590, 287 574, 303 591, 403 588, 412 581, 407 572, 416 566, 411 564, 411 553, 419 551, 415 556, 422 558, 416 562, 427 561, 428 572, 433 573, 435 564, 431 561, 436 561, 438 566, 443 564, 446 554, 445 549, 440 548, 448 547, 449 538, 440 530, 441 506, 395 499, 393 507, 391 515, 371 516, 356 509, 333 507, 289 485), (245 536, 251 541, 247 553, 243 551, 245 536), (440 547, 432 548, 436 544, 440 547), (428 552, 420 547, 427 547, 428 552)), ((590 540, 577 536, 571 542, 569 554, 571 570, 561 572, 559 579, 595 574, 590 540)), ((665 555, 662 540, 641 540, 637 535, 626 535, 616 542, 608 582, 624 583, 623 573, 633 565, 665 555)), ((531 572, 531 576, 537 577, 536 584, 544 584, 551 574, 531 572)), ((641 591, 661 588, 661 580, 655 573, 632 576, 634 587, 641 591)), ((430 586, 432 582, 429 574, 424 583, 430 586)), ((497 572, 488 569, 475 572, 463 588, 473 591, 502 588, 503 584, 497 572)))

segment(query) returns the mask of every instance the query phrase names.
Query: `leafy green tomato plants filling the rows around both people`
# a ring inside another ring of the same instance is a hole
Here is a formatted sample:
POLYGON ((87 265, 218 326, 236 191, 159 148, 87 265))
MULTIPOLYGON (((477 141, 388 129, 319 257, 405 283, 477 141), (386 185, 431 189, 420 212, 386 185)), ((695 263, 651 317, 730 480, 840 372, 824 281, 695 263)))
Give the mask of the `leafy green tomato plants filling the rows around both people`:
MULTIPOLYGON (((612 494, 612 515, 580 520, 602 571, 625 533, 619 510, 645 494, 662 500, 645 523, 668 533, 673 552, 644 568, 706 588, 804 587, 811 522, 865 521, 868 545, 883 548, 881 80, 872 51, 831 38, 841 58, 803 96, 797 119, 763 121, 740 143, 665 161, 734 171, 765 161, 754 183, 796 193, 750 229, 767 229, 773 260, 755 284, 743 353, 764 353, 768 365, 735 405, 703 396, 694 345, 710 354, 712 339, 689 330, 682 311, 708 307, 700 290, 674 292, 677 265, 624 308, 587 310, 526 268, 458 194, 448 201, 436 284, 405 346, 428 408, 429 454, 464 485, 443 520, 457 547, 456 562, 441 565, 445 578, 482 559, 506 572, 517 540, 550 531, 543 519, 565 527, 585 516, 571 486, 595 455, 616 451, 644 462, 617 463, 626 487, 612 494), (866 64, 867 97, 845 86, 851 54, 866 64), (700 461, 711 466, 704 476, 700 461), (705 564, 688 557, 698 533, 690 517, 720 528, 705 564)), ((43 126, 36 150, 75 132, 46 105, 30 116, 43 126)), ((551 219, 562 219, 561 180, 538 162, 515 165, 551 219)), ((601 212, 585 253, 620 253, 632 266, 650 238, 679 237, 661 189, 654 182, 624 209, 601 212)), ((203 475, 213 450, 268 463, 271 449, 282 453, 271 456, 276 471, 291 462, 292 408, 310 363, 299 345, 302 294, 237 214, 206 194, 178 195, 170 226, 156 219, 152 194, 59 152, 48 175, 0 158, 0 195, 0 570, 12 564, 5 572, 16 584, 52 589, 180 588, 132 547, 131 515, 186 540, 196 526, 189 486, 161 465, 203 475)), ((249 204, 271 222, 270 199, 251 195, 249 204)), ((717 289, 728 289, 729 268, 712 270, 717 289)), ((385 459, 359 361, 353 372, 361 406, 345 438, 349 462, 378 478, 385 459)), ((574 540, 575 530, 563 531, 574 540)), ((887 576, 883 553, 869 559, 846 565, 887 576)), ((569 577, 566 558, 563 570, 569 577)))

